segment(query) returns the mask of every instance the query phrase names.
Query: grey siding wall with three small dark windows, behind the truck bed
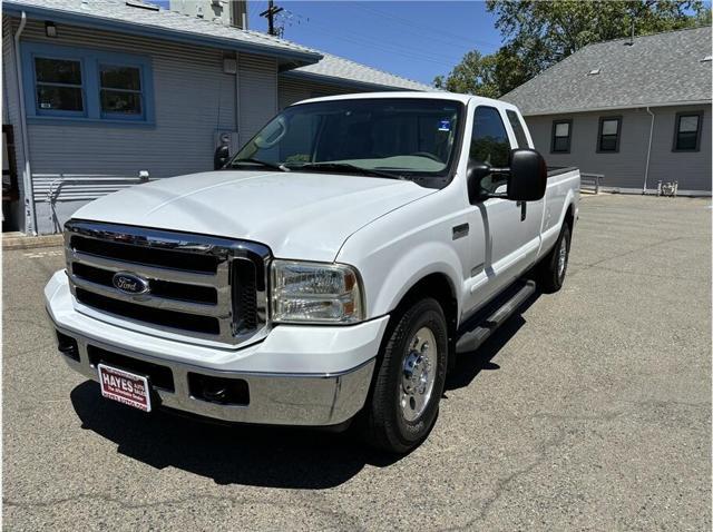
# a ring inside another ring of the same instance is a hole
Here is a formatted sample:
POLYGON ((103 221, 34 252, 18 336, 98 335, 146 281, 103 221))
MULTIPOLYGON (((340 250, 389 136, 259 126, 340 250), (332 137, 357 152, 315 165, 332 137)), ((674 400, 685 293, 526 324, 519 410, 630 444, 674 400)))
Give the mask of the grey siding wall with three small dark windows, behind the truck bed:
MULTIPOLYGON (((647 189, 656 189, 658 180, 678 180, 680 190, 711 191, 711 105, 652 108, 656 115, 649 161, 647 189), (675 115, 683 110, 704 110, 701 150, 674 152, 675 115)), ((646 152, 651 116, 645 109, 611 112, 579 112, 525 117, 535 147, 551 166, 577 166, 582 171, 604 174, 605 187, 624 191, 642 190, 646 173, 646 152), (622 138, 618 152, 597 154, 599 117, 621 116, 622 138), (572 119, 569 154, 550 152, 553 120, 572 119)))

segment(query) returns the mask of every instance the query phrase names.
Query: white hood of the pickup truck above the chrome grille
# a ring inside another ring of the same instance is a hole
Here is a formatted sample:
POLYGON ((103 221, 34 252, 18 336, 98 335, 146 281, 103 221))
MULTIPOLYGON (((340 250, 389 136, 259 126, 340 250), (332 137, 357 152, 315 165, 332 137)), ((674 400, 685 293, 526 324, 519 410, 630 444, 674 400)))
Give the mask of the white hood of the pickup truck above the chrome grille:
POLYGON ((275 257, 331 262, 351 234, 434 191, 364 176, 222 170, 138 185, 72 217, 243 238, 275 257))

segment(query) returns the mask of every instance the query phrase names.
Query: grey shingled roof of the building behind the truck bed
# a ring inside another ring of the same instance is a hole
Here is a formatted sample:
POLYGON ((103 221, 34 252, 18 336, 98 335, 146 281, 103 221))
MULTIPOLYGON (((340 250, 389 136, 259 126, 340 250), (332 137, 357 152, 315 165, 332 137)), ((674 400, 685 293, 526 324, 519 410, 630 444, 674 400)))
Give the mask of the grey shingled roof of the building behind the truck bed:
POLYGON ((710 26, 597 42, 502 100, 526 116, 710 102, 710 26))

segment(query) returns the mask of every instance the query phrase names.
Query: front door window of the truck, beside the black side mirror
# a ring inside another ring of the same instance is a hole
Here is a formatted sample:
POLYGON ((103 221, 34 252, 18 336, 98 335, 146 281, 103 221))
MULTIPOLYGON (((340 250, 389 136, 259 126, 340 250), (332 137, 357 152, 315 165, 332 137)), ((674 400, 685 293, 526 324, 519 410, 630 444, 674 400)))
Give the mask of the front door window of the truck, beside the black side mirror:
MULTIPOLYGON (((507 167, 511 146, 500 112, 495 107, 481 106, 476 109, 473 120, 470 158, 478 162, 486 162, 494 168, 507 167)), ((495 193, 506 183, 505 175, 492 174, 486 177, 480 185, 487 191, 495 193)))

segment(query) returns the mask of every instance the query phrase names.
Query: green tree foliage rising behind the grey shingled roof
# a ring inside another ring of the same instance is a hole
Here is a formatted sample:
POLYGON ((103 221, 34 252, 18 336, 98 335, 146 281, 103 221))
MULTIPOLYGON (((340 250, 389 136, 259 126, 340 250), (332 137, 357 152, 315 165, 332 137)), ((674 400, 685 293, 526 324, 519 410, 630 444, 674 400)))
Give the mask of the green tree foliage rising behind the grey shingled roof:
POLYGON ((437 88, 498 98, 580 48, 627 37, 711 23, 702 0, 487 0, 505 46, 466 53, 437 88))

